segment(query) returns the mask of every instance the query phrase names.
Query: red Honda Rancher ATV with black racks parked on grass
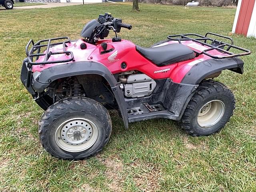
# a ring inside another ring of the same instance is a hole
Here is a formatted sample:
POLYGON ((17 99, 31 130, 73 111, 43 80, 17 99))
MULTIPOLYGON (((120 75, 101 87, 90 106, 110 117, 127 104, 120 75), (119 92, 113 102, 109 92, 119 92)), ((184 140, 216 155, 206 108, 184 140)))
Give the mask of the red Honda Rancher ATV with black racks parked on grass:
POLYGON ((132 26, 106 13, 84 26, 81 39, 28 42, 21 81, 46 110, 39 136, 53 156, 82 160, 100 152, 112 129, 108 110, 118 110, 125 128, 167 118, 192 136, 218 132, 232 116, 234 95, 212 79, 226 69, 242 74, 238 56, 249 50, 213 33, 170 35, 150 48, 104 39, 121 28, 132 26))

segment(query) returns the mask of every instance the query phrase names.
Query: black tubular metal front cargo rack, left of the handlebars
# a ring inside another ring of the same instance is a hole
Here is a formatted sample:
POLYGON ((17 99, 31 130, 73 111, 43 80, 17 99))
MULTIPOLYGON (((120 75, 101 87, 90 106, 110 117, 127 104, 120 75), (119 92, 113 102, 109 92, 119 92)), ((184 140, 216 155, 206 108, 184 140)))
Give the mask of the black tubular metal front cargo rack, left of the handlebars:
POLYGON ((28 42, 26 46, 26 55, 28 57, 28 62, 31 65, 41 65, 41 64, 52 64, 52 63, 62 63, 62 62, 70 62, 74 60, 74 55, 71 51, 66 51, 66 43, 70 43, 69 37, 58 37, 58 38, 50 38, 50 39, 44 39, 40 40, 36 43, 32 39, 28 42), (59 42, 52 42, 59 40, 59 42), (61 40, 61 41, 60 41, 61 40), (60 52, 51 52, 49 49, 52 46, 63 44, 63 51, 60 52), (32 45, 31 49, 29 47, 32 45), (40 53, 41 48, 46 48, 45 52, 40 53), (51 55, 58 55, 58 54, 66 54, 70 56, 70 58, 66 60, 54 60, 54 61, 48 61, 51 55), (36 62, 38 60, 39 56, 44 56, 44 61, 42 62, 36 62), (35 58, 35 59, 34 59, 35 58))

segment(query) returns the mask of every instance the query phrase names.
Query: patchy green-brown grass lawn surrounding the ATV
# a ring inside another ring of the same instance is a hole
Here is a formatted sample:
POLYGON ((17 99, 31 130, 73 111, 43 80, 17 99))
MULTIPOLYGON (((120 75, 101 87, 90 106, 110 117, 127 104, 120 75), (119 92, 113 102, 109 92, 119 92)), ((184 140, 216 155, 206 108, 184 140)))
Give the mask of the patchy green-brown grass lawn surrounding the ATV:
POLYGON ((8 18, 0 27, 0 191, 256 191, 256 39, 230 34, 236 9, 131 8, 124 3, 0 11, 0 18, 8 18), (112 135, 98 156, 62 161, 44 151, 38 139, 43 110, 20 82, 25 46, 30 38, 77 39, 86 22, 105 12, 132 24, 119 35, 141 46, 169 34, 211 31, 252 51, 243 58, 243 75, 225 71, 217 78, 237 100, 220 133, 191 137, 165 119, 132 123, 125 130, 111 112, 112 135))

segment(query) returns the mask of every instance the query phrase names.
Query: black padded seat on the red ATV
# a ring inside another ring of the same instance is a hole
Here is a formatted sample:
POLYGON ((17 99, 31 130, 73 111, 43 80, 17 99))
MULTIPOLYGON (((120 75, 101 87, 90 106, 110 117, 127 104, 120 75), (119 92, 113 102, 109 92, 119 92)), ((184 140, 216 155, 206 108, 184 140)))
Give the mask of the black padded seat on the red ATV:
POLYGON ((136 49, 158 66, 170 65, 195 58, 195 54, 190 48, 177 43, 152 48, 136 45, 136 49))

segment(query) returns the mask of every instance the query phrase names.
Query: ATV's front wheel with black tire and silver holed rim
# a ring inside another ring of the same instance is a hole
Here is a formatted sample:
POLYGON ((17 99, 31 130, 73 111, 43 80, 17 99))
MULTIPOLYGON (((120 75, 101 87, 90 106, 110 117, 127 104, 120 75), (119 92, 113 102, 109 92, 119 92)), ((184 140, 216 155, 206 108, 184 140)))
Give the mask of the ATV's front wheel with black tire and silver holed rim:
POLYGON ((112 122, 106 108, 90 98, 70 97, 52 104, 39 122, 47 152, 64 160, 96 155, 107 144, 112 122))

